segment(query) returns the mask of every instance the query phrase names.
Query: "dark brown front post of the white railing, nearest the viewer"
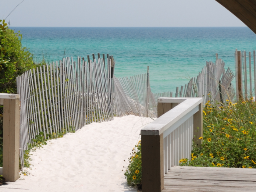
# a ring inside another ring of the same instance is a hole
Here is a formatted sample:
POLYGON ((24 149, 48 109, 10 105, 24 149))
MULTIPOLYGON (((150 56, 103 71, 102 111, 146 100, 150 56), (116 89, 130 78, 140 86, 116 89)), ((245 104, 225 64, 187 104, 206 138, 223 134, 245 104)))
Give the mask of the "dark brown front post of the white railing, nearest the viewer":
POLYGON ((143 192, 164 189, 164 138, 161 135, 141 136, 143 192))

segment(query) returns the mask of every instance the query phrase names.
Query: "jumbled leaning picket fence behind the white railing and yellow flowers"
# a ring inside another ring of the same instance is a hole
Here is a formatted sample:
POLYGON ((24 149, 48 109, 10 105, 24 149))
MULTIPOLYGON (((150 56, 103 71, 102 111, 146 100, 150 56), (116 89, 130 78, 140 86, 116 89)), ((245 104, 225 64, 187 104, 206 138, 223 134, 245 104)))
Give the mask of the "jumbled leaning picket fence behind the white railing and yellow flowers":
POLYGON ((225 71, 224 66, 224 61, 218 57, 215 63, 206 62, 197 77, 191 78, 185 87, 176 88, 175 97, 203 97, 204 104, 209 100, 220 103, 226 99, 233 100, 235 90, 232 80, 235 75, 230 68, 225 71))

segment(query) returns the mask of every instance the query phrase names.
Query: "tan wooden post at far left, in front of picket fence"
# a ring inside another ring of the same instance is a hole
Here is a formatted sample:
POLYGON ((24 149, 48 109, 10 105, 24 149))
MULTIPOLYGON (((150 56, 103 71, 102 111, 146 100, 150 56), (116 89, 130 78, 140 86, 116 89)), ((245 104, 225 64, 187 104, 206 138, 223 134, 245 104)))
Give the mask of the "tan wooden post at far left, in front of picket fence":
POLYGON ((3 177, 14 182, 19 178, 19 95, 3 104, 3 177))

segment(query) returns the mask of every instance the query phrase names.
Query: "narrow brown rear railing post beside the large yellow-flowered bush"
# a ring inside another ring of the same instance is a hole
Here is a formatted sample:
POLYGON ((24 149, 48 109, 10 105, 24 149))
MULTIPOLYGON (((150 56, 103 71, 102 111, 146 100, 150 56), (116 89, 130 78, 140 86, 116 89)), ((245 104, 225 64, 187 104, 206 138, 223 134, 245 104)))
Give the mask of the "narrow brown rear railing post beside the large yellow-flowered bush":
POLYGON ((199 104, 199 111, 193 115, 193 141, 196 146, 200 147, 203 136, 203 102, 199 104), (196 137, 195 137, 196 136, 196 137))

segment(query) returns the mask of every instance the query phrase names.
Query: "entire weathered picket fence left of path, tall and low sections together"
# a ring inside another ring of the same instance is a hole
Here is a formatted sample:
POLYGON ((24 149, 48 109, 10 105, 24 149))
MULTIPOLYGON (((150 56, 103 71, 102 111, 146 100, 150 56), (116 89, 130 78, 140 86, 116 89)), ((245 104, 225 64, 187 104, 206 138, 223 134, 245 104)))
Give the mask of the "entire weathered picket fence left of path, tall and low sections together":
POLYGON ((107 54, 87 61, 78 57, 26 71, 17 77, 21 101, 20 159, 39 137, 54 138, 91 122, 114 116, 157 116, 149 72, 130 78, 114 77, 115 60, 107 54))

